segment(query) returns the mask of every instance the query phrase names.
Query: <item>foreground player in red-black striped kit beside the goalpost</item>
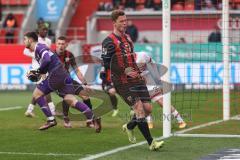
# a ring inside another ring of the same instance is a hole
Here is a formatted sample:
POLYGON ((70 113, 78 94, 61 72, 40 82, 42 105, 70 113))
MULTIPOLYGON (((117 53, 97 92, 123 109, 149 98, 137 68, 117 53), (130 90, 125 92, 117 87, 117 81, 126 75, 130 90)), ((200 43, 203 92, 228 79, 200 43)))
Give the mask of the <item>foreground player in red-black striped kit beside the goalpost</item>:
POLYGON ((117 93, 133 108, 135 116, 123 125, 129 141, 136 142, 133 129, 138 126, 149 144, 150 150, 157 150, 163 141, 153 140, 145 117, 151 112, 150 96, 145 80, 134 59, 133 43, 125 34, 127 17, 122 10, 114 10, 111 14, 113 33, 102 42, 103 65, 105 70, 111 71, 111 80, 117 93))

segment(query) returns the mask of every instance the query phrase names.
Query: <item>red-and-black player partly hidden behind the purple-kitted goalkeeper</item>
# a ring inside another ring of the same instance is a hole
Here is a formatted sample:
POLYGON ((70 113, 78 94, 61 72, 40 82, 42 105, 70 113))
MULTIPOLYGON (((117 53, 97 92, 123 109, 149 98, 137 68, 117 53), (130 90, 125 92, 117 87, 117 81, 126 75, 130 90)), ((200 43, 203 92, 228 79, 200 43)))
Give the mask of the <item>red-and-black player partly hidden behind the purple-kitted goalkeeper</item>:
MULTIPOLYGON (((87 96, 85 90, 90 90, 86 79, 82 75, 80 69, 78 68, 75 57, 74 55, 66 50, 67 48, 67 41, 66 37, 60 36, 57 38, 56 42, 56 50, 54 51, 61 62, 63 63, 65 69, 70 72, 70 67, 72 67, 77 74, 78 79, 82 82, 82 84, 78 83, 77 81, 73 80, 73 86, 75 89, 75 95, 80 96, 83 99, 83 102, 90 108, 92 109, 92 103, 90 98, 87 96)), ((63 101, 63 116, 64 116, 64 127, 66 128, 71 128, 71 123, 68 117, 68 112, 69 112, 69 106, 66 104, 65 101, 63 101)), ((92 123, 87 122, 88 127, 94 127, 92 123)))

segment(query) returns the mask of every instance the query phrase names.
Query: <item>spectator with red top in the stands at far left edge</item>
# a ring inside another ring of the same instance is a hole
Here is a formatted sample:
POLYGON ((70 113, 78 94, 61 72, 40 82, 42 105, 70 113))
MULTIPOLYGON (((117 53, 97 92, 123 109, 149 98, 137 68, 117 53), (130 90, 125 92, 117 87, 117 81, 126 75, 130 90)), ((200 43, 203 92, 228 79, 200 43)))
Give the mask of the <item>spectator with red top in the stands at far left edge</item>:
POLYGON ((5 43, 14 43, 14 31, 17 28, 17 19, 12 13, 6 16, 3 22, 3 28, 6 31, 5 43))

